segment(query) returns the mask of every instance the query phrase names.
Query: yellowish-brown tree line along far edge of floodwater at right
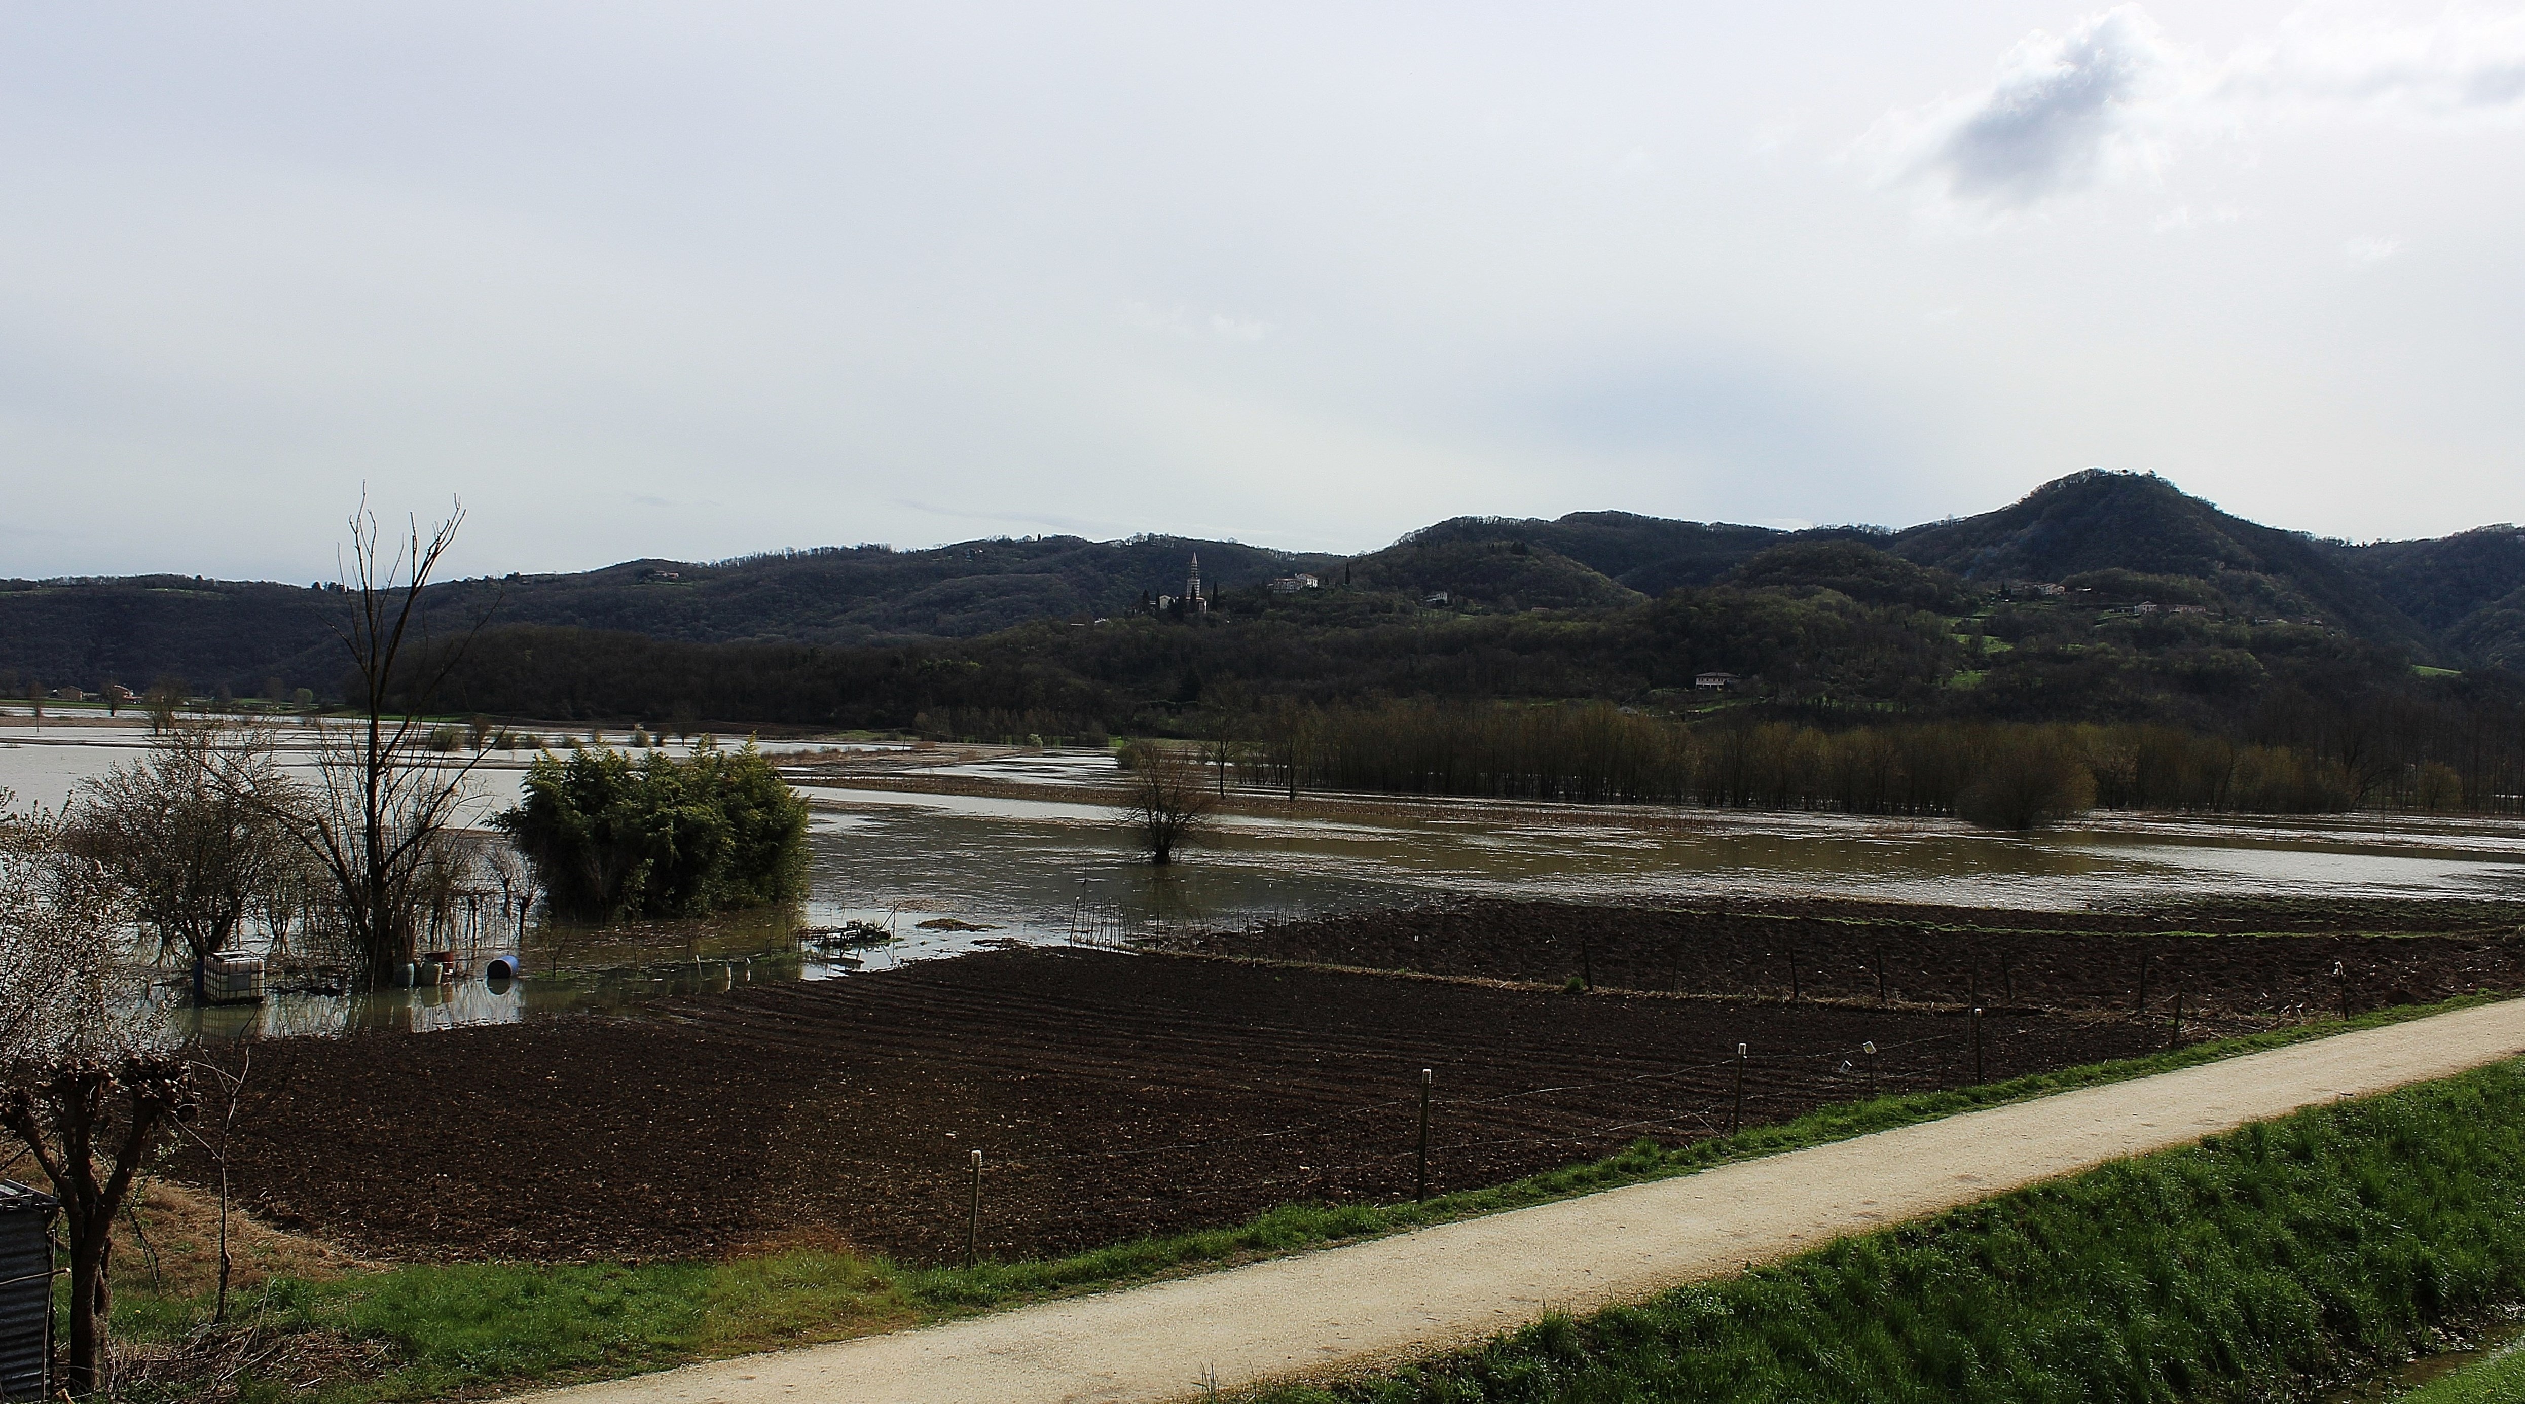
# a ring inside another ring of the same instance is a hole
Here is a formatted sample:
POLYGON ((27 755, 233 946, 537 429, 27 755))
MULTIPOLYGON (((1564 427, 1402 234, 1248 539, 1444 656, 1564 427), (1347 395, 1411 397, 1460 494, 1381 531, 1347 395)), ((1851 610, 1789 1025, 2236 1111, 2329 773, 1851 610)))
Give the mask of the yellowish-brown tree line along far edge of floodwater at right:
POLYGON ((2525 737, 2429 753, 2427 732, 2257 745, 2169 725, 1684 722, 1608 702, 1278 707, 1220 735, 1273 788, 1507 800, 1964 816, 2025 828, 2088 806, 2194 813, 2520 813, 2525 737), (2452 758, 2449 758, 2452 755, 2452 758))

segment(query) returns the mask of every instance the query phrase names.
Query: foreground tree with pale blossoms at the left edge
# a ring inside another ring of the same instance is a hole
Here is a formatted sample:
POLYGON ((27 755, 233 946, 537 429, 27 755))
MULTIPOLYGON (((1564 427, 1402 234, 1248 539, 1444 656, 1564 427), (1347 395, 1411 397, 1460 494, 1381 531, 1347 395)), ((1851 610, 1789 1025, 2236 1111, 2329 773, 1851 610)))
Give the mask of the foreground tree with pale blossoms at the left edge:
POLYGON ((63 846, 58 816, 0 823, 0 1126, 61 1199, 73 1394, 104 1384, 114 1215, 189 1096, 129 937, 119 886, 63 846))

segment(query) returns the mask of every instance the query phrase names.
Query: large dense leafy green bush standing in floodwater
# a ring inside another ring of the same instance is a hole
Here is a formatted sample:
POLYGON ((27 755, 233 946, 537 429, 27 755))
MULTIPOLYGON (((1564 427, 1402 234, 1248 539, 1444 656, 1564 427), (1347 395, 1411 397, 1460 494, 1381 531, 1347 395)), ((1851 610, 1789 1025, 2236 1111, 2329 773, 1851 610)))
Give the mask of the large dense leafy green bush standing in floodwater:
POLYGON ((704 740, 687 760, 545 753, 525 770, 525 803, 492 823, 563 919, 699 917, 805 896, 805 800, 752 742, 704 740))

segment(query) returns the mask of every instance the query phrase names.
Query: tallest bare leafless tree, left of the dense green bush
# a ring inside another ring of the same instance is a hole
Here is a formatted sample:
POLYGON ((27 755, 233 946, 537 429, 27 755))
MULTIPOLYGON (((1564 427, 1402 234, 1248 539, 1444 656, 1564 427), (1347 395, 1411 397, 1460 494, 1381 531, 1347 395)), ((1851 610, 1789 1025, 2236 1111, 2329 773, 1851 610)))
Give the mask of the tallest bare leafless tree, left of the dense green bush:
POLYGON ((351 654, 354 717, 316 727, 311 803, 285 816, 338 894, 354 975, 369 987, 391 985, 412 962, 419 884, 432 848, 462 826, 472 803, 467 778, 482 760, 480 750, 432 753, 424 720, 465 644, 490 619, 485 609, 462 634, 434 644, 422 611, 422 591, 462 525, 457 503, 427 535, 412 518, 407 535, 389 543, 366 497, 351 513, 343 563, 351 614, 341 641, 351 654))

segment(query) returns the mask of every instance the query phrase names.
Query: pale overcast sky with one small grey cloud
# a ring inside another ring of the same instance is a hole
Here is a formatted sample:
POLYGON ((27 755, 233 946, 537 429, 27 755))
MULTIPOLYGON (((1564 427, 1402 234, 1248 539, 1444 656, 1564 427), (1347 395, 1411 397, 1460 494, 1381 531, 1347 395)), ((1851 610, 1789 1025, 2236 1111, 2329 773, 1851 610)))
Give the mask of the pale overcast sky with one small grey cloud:
POLYGON ((2525 8, 0 5, 0 576, 2525 518, 2525 8))

